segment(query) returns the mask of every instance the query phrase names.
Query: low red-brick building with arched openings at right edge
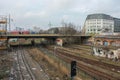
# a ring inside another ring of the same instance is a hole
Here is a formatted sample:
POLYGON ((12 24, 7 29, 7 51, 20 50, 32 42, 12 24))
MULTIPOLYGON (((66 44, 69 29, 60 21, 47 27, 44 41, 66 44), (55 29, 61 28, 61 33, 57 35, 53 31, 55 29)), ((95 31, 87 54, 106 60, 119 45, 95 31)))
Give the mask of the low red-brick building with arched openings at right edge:
POLYGON ((94 37, 94 44, 97 46, 120 47, 120 34, 98 35, 94 37))

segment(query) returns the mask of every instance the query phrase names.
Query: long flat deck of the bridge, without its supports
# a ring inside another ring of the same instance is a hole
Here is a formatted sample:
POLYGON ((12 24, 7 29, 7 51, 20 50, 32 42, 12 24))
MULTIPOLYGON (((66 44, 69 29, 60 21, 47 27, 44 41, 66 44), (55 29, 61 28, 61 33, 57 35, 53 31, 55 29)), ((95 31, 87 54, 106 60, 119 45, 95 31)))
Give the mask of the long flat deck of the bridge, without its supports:
POLYGON ((1 35, 6 38, 62 38, 62 37, 81 37, 89 38, 90 35, 60 35, 60 34, 6 34, 1 35))

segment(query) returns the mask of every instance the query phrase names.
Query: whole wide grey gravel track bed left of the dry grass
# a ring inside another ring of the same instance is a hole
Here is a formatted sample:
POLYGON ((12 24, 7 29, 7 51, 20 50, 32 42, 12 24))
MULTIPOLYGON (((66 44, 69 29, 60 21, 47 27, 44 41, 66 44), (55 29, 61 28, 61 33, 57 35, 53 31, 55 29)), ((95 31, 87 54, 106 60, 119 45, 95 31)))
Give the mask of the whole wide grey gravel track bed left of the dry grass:
POLYGON ((28 49, 18 47, 13 50, 14 64, 9 80, 50 80, 41 65, 30 55, 28 49))

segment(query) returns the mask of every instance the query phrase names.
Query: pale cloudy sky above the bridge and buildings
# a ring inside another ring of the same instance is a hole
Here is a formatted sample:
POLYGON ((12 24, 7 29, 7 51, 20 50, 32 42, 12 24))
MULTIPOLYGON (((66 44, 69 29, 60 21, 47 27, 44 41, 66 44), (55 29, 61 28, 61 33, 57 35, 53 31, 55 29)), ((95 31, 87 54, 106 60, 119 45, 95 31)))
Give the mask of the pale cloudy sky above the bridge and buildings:
POLYGON ((0 15, 10 14, 13 27, 47 29, 49 22, 73 22, 83 26, 86 16, 106 13, 120 17, 120 0, 0 0, 0 15))

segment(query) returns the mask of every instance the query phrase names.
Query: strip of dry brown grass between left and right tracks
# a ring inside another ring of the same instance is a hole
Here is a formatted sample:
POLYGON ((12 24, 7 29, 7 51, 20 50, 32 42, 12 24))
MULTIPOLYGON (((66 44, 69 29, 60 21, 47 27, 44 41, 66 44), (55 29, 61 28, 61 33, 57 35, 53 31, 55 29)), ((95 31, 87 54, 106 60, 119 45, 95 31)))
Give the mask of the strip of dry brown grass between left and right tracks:
POLYGON ((43 52, 41 52, 37 48, 33 48, 28 51, 31 57, 35 61, 40 63, 42 69, 51 77, 50 80, 56 80, 57 78, 59 78, 59 80, 68 80, 64 78, 65 74, 61 71, 61 69, 64 69, 64 68, 60 67, 60 64, 58 66, 57 60, 50 58, 48 55, 45 55, 43 52))

